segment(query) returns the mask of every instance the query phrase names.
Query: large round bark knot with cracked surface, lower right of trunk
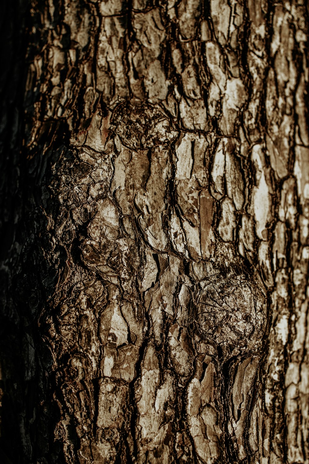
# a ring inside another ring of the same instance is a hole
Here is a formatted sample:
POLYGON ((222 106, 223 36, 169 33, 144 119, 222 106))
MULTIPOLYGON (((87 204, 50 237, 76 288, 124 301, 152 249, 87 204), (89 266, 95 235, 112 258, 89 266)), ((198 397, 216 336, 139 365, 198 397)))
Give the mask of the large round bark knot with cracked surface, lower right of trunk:
POLYGON ((195 301, 200 334, 219 345, 225 355, 259 348, 265 329, 266 301, 257 286, 245 277, 200 282, 195 301))

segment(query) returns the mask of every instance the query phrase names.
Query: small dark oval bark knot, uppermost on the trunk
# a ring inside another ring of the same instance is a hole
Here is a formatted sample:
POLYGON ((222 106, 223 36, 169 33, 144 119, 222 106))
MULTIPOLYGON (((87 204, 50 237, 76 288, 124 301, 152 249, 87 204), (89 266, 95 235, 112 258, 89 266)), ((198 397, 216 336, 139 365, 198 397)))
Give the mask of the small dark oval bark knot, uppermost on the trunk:
POLYGON ((177 130, 164 112, 151 105, 120 105, 111 123, 121 142, 134 150, 166 145, 177 137, 177 130))

